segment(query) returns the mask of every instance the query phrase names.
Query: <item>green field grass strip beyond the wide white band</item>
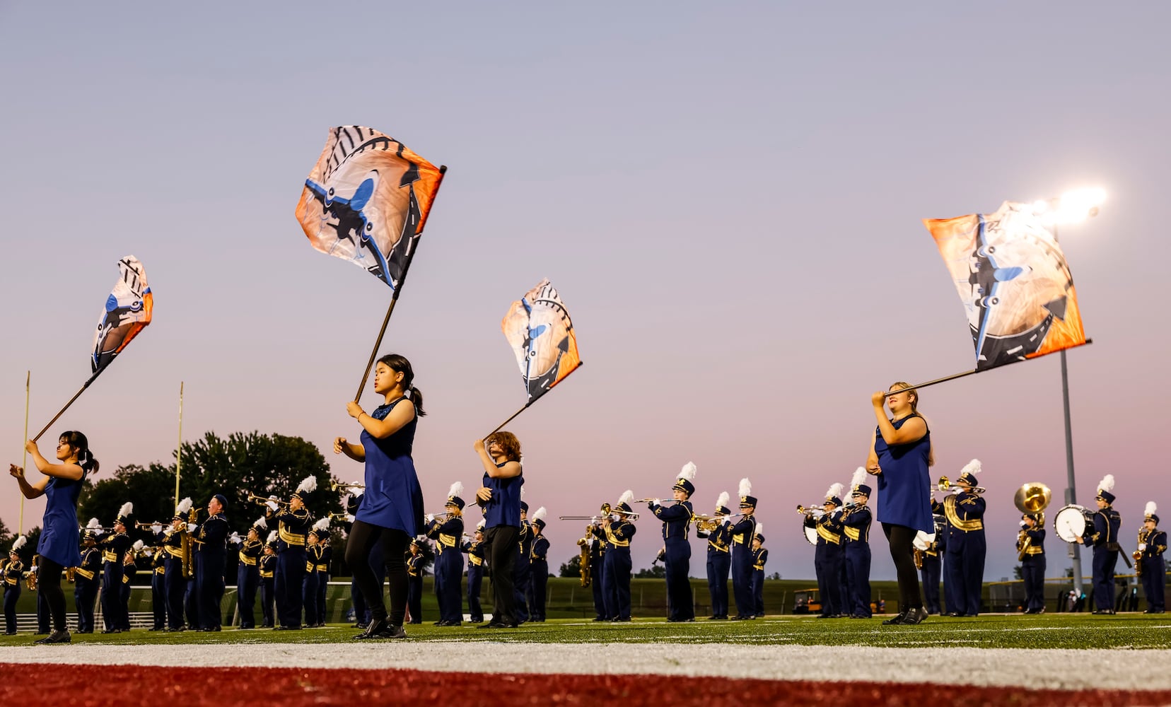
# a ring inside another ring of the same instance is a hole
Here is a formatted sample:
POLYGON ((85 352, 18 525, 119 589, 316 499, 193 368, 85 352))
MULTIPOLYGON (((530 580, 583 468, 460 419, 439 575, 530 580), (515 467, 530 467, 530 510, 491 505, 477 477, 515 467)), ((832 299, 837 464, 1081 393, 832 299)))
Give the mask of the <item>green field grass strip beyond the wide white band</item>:
MULTIPOLYGON (((525 643, 673 643, 739 645, 826 645, 886 647, 979 647, 979 648, 1171 648, 1171 618, 1150 615, 985 615, 977 618, 931 617, 918 626, 883 626, 881 618, 815 619, 775 616, 752 622, 667 624, 663 619, 638 619, 629 624, 554 619, 525 624, 514 630, 478 631, 465 624, 437 627, 430 623, 408 626, 411 640, 525 641, 525 643)), ((226 629, 219 633, 162 633, 135 630, 130 633, 87 634, 75 643, 112 645, 178 644, 281 644, 348 643, 357 632, 345 624, 303 631, 226 629)), ((33 636, 0 636, 0 647, 29 645, 33 636)), ((68 650, 68 648, 66 648, 68 650)), ((2 658, 0 658, 2 659, 2 658)))

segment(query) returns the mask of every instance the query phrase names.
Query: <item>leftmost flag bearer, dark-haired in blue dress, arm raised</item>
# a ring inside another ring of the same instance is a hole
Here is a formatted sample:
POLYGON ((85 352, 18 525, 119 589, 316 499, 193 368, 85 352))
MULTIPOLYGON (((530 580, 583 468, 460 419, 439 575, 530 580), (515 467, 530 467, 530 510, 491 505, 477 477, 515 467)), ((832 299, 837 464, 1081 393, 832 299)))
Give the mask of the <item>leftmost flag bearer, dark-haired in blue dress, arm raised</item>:
POLYGON ((26 499, 44 496, 46 500, 41 540, 36 544, 36 552, 40 555, 36 581, 37 591, 53 616, 53 631, 36 643, 69 643, 61 572, 67 567, 81 564, 77 496, 81 495, 85 476, 97 473, 98 464, 89 451, 89 440, 81 432, 66 432, 60 437, 56 453, 60 464, 44 459, 33 440, 25 442, 25 449, 33 455, 36 469, 44 474, 36 483, 29 483, 22 467, 8 465, 8 473, 16 479, 20 493, 26 499))

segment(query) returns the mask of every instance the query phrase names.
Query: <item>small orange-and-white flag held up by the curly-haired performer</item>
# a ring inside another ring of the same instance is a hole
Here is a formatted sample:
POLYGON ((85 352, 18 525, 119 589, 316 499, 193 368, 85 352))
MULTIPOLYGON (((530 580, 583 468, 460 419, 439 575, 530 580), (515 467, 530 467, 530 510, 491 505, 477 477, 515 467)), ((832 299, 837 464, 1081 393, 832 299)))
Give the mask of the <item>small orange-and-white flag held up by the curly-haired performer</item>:
POLYGON ((513 302, 500 327, 525 377, 527 405, 581 365, 569 311, 548 280, 513 302))

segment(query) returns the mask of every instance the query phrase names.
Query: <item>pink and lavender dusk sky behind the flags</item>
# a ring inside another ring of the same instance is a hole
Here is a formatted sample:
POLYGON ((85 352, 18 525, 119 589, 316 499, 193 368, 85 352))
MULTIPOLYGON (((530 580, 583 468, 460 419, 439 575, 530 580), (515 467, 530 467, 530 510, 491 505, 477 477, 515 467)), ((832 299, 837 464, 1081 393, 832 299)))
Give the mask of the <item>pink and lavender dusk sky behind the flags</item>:
MULTIPOLYGON (((500 318, 549 277, 586 365, 508 427, 526 500, 556 517, 626 488, 670 497, 690 460, 698 512, 749 478, 767 571, 812 578, 794 507, 864 464, 871 392, 973 366, 922 219, 1101 186, 1100 215, 1061 231, 1094 339, 1068 355, 1077 499, 1112 473, 1134 549, 1146 501, 1171 517, 1167 26, 1158 2, 0 2, 2 459, 21 459, 27 370, 30 434, 89 376, 133 254, 155 321, 47 453, 77 428, 97 479, 170 462, 182 380, 185 439, 300 435, 361 479, 328 447, 357 438, 345 401, 390 289, 294 218, 327 130, 359 124, 448 166, 382 346, 426 396, 430 510, 457 480, 471 497, 473 441, 523 404, 500 318)), ((982 460, 985 579, 1009 577, 1013 493, 1041 481, 1050 519, 1063 504, 1059 357, 927 389, 920 411, 933 478, 982 460)), ((42 510, 26 503, 25 529, 42 510)), ((639 568, 662 540, 637 526, 639 568)), ((549 523, 554 570, 582 529, 549 523)), ((874 577, 893 578, 871 538, 874 577)))

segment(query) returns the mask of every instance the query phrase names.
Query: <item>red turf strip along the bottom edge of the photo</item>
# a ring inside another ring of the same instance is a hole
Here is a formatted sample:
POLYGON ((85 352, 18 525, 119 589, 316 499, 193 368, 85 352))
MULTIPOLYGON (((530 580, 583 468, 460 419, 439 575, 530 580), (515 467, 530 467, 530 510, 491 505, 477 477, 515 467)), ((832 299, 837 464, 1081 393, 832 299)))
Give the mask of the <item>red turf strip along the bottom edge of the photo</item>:
MULTIPOLYGON (((583 660, 588 660, 583 655, 583 660)), ((898 682, 666 675, 441 673, 413 670, 141 667, 0 663, 0 705, 1167 705, 1171 691, 1057 691, 898 682)))

